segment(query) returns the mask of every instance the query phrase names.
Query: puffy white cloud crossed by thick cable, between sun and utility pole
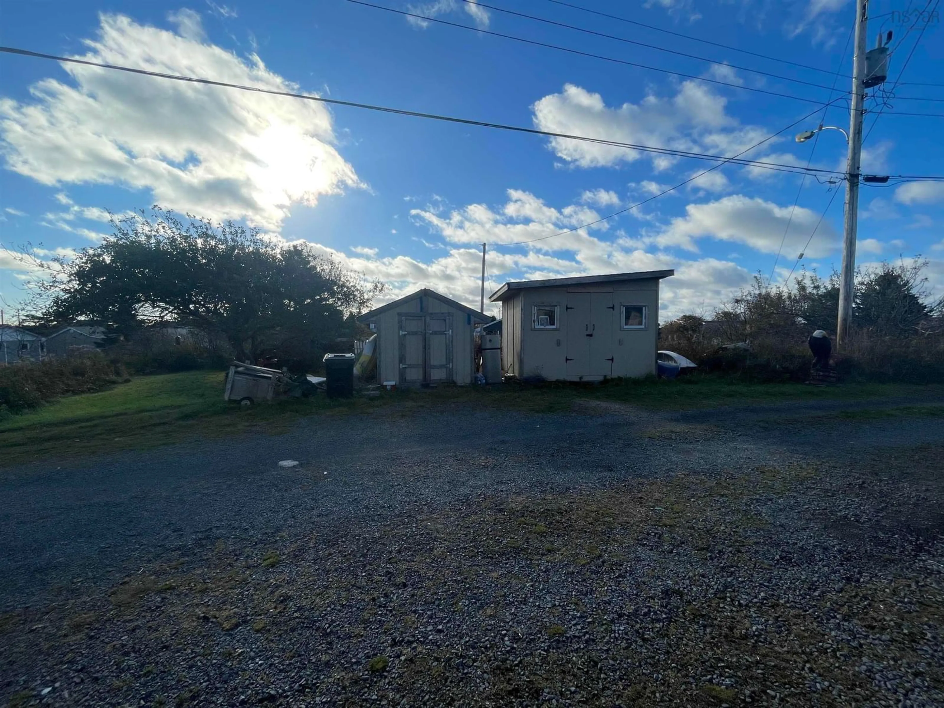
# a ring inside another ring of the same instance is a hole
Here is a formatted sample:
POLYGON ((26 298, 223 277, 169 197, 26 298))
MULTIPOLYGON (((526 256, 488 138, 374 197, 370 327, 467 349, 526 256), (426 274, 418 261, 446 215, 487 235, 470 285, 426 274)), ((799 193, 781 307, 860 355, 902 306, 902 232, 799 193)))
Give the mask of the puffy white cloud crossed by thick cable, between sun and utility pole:
MULTIPOLYGON (((639 103, 609 107, 599 93, 566 84, 531 106, 541 130, 618 143, 690 152, 734 155, 767 137, 758 126, 744 126, 726 111, 727 99, 696 81, 683 81, 671 97, 649 95, 639 103)), ((665 170, 679 158, 603 143, 551 138, 561 159, 579 167, 615 166, 649 159, 665 170)))

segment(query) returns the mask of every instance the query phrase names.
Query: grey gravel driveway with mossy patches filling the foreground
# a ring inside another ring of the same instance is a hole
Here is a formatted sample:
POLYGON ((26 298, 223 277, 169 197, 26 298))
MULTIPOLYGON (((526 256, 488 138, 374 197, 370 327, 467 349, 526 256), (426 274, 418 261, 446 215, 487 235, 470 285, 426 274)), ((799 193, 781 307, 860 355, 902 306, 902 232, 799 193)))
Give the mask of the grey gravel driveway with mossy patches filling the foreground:
POLYGON ((849 408, 439 406, 4 470, 0 700, 942 705, 944 417, 849 408))

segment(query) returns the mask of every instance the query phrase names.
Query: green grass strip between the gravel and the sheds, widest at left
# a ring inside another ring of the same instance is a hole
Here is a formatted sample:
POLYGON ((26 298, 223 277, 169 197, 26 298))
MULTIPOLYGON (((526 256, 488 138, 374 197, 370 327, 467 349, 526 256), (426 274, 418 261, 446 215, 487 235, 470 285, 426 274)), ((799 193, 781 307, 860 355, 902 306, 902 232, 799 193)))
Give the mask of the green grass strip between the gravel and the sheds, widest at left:
POLYGON ((141 377, 106 391, 60 398, 31 413, 10 416, 0 421, 0 466, 158 447, 247 431, 279 432, 306 415, 369 413, 379 407, 400 414, 428 410, 430 406, 555 413, 569 411, 585 400, 683 410, 789 400, 862 401, 934 392, 944 395, 942 386, 847 384, 818 388, 696 375, 676 381, 615 380, 601 385, 506 384, 401 390, 378 398, 341 401, 329 401, 319 394, 244 409, 223 400, 223 379, 222 371, 141 377))

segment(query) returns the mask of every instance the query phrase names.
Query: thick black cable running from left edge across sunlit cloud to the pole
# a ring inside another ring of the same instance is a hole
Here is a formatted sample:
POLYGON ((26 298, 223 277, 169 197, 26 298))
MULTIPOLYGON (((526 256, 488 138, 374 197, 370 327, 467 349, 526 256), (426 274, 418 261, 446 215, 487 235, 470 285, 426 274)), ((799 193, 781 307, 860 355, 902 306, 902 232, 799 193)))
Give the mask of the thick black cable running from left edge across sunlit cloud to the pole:
MULTIPOLYGON (((454 116, 439 115, 436 113, 424 113, 424 112, 420 112, 416 110, 394 109, 394 108, 389 108, 385 106, 375 106, 375 105, 366 104, 366 103, 356 103, 354 101, 342 101, 336 98, 325 98, 324 96, 316 96, 309 93, 293 93, 293 92, 287 92, 287 91, 277 91, 275 89, 262 89, 255 86, 244 86, 241 84, 233 84, 233 83, 228 83, 226 81, 215 81, 209 78, 199 78, 196 76, 163 74, 160 72, 149 71, 147 69, 135 69, 132 67, 121 66, 118 64, 106 64, 106 63, 102 63, 98 61, 91 61, 89 59, 75 59, 71 57, 59 57, 56 55, 42 54, 40 52, 33 52, 26 49, 17 49, 14 47, 0 46, 0 52, 7 53, 7 54, 16 54, 16 55, 30 57, 34 59, 50 59, 54 61, 63 61, 63 62, 68 62, 68 63, 81 64, 84 66, 94 66, 101 69, 110 69, 113 71, 129 72, 131 74, 139 74, 142 76, 152 76, 155 78, 165 78, 165 79, 171 79, 175 81, 184 81, 188 83, 206 84, 208 86, 217 86, 217 87, 223 87, 223 88, 228 88, 228 89, 237 89, 239 91, 265 93, 269 95, 285 96, 288 98, 300 98, 300 99, 304 99, 308 101, 315 101, 317 103, 325 103, 332 106, 346 106, 348 108, 377 110, 379 112, 384 112, 384 113, 394 113, 396 115, 407 115, 407 116, 412 116, 414 118, 426 118, 430 120, 445 121, 447 123, 458 123, 465 126, 490 127, 490 128, 495 128, 499 130, 511 130, 511 131, 519 132, 519 133, 528 133, 531 135, 542 135, 542 136, 546 136, 550 138, 563 138, 567 140, 577 140, 577 141, 582 141, 586 143, 606 144, 606 145, 612 145, 614 147, 624 147, 624 148, 628 148, 632 150, 638 150, 640 152, 649 152, 649 153, 655 153, 659 155, 670 155, 673 157, 690 158, 690 159, 696 159, 696 160, 722 160, 725 162, 734 161, 738 164, 750 165, 753 167, 759 167, 762 169, 771 169, 775 171, 792 172, 795 174, 800 174, 800 171, 801 171, 801 168, 799 168, 797 165, 789 165, 789 164, 784 164, 781 162, 766 162, 762 160, 733 160, 732 158, 725 158, 720 155, 710 155, 707 153, 697 153, 697 152, 690 152, 690 151, 685 151, 685 150, 675 150, 675 149, 671 149, 667 147, 655 147, 652 145, 643 145, 643 144, 636 144, 636 143, 621 143, 618 141, 605 140, 603 138, 589 138, 583 135, 557 133, 557 132, 553 132, 549 130, 539 130, 538 128, 524 127, 524 126, 509 126, 509 125, 500 124, 500 123, 489 123, 487 121, 477 121, 477 120, 472 120, 472 119, 467 119, 467 118, 456 118, 454 116)), ((838 100, 841 100, 841 99, 836 99, 836 101, 838 100)), ((834 170, 821 170, 818 168, 811 168, 807 172, 834 174, 834 175, 843 174, 841 172, 837 172, 834 170)), ((909 176, 909 177, 914 177, 914 176, 909 176)), ((942 176, 942 178, 944 178, 944 176, 942 176)))

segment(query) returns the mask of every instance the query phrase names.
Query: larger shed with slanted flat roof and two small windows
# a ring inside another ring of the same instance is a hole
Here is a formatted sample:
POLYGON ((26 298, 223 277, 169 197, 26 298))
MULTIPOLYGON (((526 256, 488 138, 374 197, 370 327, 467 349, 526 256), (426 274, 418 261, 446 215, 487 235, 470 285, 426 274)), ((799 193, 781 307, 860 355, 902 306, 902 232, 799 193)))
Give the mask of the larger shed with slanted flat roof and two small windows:
POLYGON ((598 381, 656 373, 659 282, 674 270, 507 282, 501 358, 517 379, 598 381))

